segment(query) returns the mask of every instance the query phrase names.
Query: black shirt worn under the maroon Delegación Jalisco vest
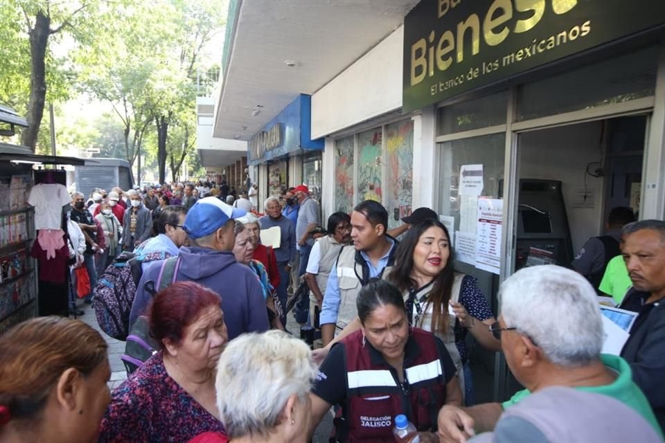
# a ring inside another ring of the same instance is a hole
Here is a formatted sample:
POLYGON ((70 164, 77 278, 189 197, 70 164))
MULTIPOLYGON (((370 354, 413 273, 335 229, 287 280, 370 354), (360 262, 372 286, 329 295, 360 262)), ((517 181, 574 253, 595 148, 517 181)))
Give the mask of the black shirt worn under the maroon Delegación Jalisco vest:
MULTIPOLYGON (((449 382, 455 376, 455 365, 452 363, 450 354, 445 349, 445 345, 441 338, 434 337, 438 354, 441 356, 441 368, 443 369, 443 377, 445 382, 449 382)), ((370 356, 373 362, 381 362, 389 367, 388 363, 383 359, 383 356, 375 350, 375 348, 368 342, 370 356)), ((416 341, 409 336, 405 346, 404 367, 409 367, 409 362, 413 361, 420 350, 416 341)), ((314 382, 312 393, 321 397, 329 404, 344 405, 346 402, 346 367, 344 359, 344 343, 338 343, 332 347, 326 359, 321 363, 317 381, 314 382)))

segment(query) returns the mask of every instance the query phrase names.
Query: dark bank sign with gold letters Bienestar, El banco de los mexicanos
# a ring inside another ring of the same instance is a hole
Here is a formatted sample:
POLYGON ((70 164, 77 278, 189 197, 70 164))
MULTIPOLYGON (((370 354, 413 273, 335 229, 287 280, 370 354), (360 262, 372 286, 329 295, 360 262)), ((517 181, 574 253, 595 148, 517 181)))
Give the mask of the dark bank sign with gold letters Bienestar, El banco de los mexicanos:
POLYGON ((665 0, 422 0, 404 21, 402 109, 665 23, 665 0))

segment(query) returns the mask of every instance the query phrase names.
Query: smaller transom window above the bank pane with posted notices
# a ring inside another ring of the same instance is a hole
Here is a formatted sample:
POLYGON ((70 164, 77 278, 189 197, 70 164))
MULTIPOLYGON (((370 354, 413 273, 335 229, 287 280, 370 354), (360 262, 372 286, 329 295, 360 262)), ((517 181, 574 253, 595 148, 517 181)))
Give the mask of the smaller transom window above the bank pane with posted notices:
POLYGON ((504 125, 508 91, 455 103, 438 110, 437 135, 454 134, 483 127, 504 125))

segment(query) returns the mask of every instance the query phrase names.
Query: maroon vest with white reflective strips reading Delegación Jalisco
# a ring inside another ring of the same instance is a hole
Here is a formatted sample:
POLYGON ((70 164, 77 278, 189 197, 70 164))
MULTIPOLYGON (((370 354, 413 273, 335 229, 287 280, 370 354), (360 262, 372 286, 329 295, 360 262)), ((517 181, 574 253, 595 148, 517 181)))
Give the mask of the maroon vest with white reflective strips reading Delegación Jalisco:
POLYGON ((405 347, 404 383, 362 331, 345 337, 346 405, 335 419, 340 442, 393 441, 396 415, 405 414, 418 431, 436 431, 445 403, 445 374, 433 334, 413 328, 405 347))

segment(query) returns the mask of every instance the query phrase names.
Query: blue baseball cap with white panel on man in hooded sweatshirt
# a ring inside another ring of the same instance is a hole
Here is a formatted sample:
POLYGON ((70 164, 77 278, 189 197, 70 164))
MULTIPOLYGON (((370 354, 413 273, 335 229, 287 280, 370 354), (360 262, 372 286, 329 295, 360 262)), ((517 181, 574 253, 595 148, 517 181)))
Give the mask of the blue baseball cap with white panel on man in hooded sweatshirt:
POLYGON ((246 214, 246 210, 233 208, 222 203, 217 197, 204 197, 187 211, 182 228, 190 238, 197 239, 212 234, 227 224, 227 221, 246 214))

